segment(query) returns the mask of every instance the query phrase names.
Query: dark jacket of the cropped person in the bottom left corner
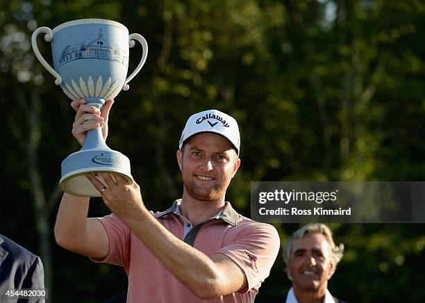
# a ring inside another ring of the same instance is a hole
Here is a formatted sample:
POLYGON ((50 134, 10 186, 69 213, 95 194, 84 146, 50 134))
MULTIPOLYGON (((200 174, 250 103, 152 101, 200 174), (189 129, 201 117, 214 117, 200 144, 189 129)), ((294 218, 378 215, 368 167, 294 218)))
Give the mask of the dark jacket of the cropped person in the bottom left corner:
MULTIPOLYGON (((0 301, 7 290, 44 288, 44 270, 40 257, 0 234, 0 301)), ((6 302, 17 302, 9 300, 6 302)), ((18 302, 44 302, 44 299, 18 302)))

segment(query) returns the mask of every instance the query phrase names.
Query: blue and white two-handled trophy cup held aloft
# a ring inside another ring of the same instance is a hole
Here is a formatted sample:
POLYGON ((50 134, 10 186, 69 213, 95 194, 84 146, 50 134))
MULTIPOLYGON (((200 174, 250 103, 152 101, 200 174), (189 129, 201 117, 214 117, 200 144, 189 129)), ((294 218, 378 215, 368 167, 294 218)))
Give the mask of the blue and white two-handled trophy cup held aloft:
MULTIPOLYGON (((72 100, 83 98, 99 110, 106 100, 128 90, 128 82, 140 72, 147 57, 147 42, 142 35, 128 35, 126 26, 106 19, 80 19, 65 22, 51 30, 37 28, 31 38, 35 56, 55 76, 56 85, 72 100), (51 42, 53 67, 44 60, 37 47, 37 36, 51 42), (142 59, 135 71, 126 78, 128 50, 142 44, 142 59)), ((88 121, 85 123, 93 123, 88 121)), ((99 191, 85 177, 86 173, 114 172, 133 183, 130 161, 103 141, 101 129, 88 131, 83 147, 62 162, 60 188, 72 195, 100 197, 99 191)))

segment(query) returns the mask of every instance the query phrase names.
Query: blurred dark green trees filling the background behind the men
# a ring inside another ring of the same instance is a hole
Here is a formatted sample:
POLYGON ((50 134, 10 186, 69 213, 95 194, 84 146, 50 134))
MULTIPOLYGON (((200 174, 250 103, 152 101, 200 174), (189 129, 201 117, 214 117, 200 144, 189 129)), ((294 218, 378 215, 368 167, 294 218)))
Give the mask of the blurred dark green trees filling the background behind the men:
MULTIPOLYGON (((147 63, 115 99, 108 145, 131 159, 153 211, 181 195, 178 139, 207 108, 240 124, 242 167, 226 199, 247 216, 251 181, 424 179, 424 1, 1 1, 0 232, 41 256, 50 302, 99 302, 127 285, 122 268, 53 238, 60 163, 78 145, 69 99, 35 59, 31 34, 88 17, 121 22, 149 44, 147 63)), ((49 43, 38 46, 51 62, 49 43)), ((130 56, 133 70, 138 44, 130 56)), ((89 215, 108 213, 92 199, 89 215)), ((346 247, 333 295, 425 300, 423 224, 329 225, 346 247)), ((276 224, 282 245, 298 227, 276 224)), ((256 302, 288 288, 279 256, 256 302)))

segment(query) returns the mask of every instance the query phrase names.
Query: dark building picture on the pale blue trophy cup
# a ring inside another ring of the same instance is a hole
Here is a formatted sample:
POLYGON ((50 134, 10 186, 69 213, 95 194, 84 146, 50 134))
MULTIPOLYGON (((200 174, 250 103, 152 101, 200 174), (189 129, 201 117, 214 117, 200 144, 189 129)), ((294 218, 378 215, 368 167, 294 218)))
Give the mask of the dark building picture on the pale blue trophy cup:
POLYGON ((118 61, 128 67, 128 56, 118 45, 110 40, 103 39, 102 29, 99 28, 97 38, 89 42, 81 42, 76 45, 67 45, 63 49, 59 59, 59 66, 78 59, 97 58, 103 60, 118 61))

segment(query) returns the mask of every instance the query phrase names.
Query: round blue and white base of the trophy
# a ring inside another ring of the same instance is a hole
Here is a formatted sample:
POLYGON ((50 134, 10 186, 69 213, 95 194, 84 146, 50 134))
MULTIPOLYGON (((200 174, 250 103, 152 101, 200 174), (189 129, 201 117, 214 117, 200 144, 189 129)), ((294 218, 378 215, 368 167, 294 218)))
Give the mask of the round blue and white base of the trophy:
MULTIPOLYGON (((106 148, 81 149, 67 156, 62 162, 60 188, 78 197, 101 197, 99 191, 85 177, 85 174, 95 172, 119 174, 126 178, 128 183, 133 183, 130 160, 119 151, 106 146, 106 148)), ((103 179, 101 181, 104 183, 103 179)))

